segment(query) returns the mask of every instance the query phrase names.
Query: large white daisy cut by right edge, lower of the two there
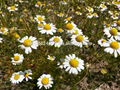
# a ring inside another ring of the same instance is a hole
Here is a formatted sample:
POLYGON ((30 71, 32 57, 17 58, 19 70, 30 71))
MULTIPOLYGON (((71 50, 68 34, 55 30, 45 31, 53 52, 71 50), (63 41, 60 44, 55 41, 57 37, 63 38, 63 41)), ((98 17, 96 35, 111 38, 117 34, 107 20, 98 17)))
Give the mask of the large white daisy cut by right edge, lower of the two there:
POLYGON ((114 57, 116 58, 118 55, 120 55, 120 42, 110 39, 108 43, 106 43, 106 48, 104 49, 105 52, 114 54, 114 57))

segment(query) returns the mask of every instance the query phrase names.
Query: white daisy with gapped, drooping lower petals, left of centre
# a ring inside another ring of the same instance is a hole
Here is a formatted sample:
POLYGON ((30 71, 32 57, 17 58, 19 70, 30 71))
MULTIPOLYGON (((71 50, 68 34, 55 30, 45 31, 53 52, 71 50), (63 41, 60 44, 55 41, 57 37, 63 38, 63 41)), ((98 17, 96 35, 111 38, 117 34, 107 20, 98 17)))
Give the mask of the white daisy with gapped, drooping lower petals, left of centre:
POLYGON ((22 38, 19 41, 20 41, 20 43, 22 43, 22 45, 20 45, 20 47, 22 49, 25 49, 26 54, 31 53, 32 49, 37 49, 37 47, 38 47, 38 41, 33 36, 30 36, 30 37, 25 36, 24 38, 22 38))

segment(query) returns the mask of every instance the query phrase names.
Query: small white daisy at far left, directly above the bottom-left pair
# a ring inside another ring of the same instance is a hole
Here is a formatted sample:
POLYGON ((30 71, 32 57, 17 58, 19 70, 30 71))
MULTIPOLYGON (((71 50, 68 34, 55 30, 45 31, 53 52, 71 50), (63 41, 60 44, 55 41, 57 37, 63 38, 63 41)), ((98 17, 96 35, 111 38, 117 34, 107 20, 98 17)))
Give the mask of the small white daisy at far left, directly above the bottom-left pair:
POLYGON ((24 57, 23 57, 23 54, 15 53, 14 57, 12 57, 11 59, 12 59, 11 62, 13 65, 18 65, 18 64, 21 64, 23 62, 24 57))

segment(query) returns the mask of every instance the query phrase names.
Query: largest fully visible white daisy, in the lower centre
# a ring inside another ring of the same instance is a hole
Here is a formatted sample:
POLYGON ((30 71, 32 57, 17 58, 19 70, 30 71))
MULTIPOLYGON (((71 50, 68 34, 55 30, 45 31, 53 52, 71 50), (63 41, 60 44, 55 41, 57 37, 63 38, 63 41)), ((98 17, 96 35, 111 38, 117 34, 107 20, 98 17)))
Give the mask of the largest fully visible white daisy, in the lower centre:
POLYGON ((70 74, 78 74, 78 72, 84 69, 84 61, 76 57, 75 54, 69 54, 65 57, 63 67, 66 69, 65 71, 70 74))

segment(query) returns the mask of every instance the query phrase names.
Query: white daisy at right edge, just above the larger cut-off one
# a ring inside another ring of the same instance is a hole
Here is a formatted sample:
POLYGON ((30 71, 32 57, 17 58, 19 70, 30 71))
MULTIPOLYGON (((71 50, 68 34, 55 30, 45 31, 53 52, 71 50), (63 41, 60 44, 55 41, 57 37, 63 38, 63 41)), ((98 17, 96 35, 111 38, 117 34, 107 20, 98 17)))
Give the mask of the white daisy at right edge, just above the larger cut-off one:
POLYGON ((114 38, 116 40, 120 40, 120 32, 117 28, 108 27, 104 29, 105 35, 107 35, 109 38, 114 38))

